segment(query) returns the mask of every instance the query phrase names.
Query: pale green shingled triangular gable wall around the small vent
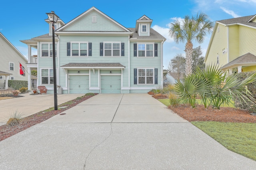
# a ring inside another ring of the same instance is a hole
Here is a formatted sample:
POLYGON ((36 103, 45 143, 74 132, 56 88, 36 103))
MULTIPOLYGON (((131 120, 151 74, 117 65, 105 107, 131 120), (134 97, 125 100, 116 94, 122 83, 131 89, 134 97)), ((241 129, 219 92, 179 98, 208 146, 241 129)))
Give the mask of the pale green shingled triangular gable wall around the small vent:
POLYGON ((110 20, 106 20, 104 16, 97 12, 90 12, 86 17, 81 18, 76 24, 65 28, 65 31, 116 31, 123 32, 124 29, 118 27, 110 20), (96 23, 92 23, 92 16, 96 16, 96 23), (86 23, 86 24, 85 24, 86 23))

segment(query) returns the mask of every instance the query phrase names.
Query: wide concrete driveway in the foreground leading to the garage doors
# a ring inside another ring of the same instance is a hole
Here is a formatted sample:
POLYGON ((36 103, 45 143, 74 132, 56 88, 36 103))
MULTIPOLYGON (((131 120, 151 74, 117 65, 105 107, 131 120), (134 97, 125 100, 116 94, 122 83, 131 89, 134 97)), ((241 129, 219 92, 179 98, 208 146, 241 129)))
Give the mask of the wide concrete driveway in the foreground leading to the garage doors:
POLYGON ((256 169, 148 94, 99 94, 0 142, 0 169, 256 169))

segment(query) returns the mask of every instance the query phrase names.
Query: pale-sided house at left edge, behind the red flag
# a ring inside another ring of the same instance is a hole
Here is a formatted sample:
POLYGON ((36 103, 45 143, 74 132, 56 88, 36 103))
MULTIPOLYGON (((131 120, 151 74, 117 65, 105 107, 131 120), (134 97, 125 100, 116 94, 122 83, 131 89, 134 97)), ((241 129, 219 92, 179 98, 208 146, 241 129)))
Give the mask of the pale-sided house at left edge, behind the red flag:
POLYGON ((0 32, 0 89, 8 89, 8 80, 28 81, 26 72, 28 60, 0 32), (20 75, 20 64, 24 67, 24 75, 20 75))

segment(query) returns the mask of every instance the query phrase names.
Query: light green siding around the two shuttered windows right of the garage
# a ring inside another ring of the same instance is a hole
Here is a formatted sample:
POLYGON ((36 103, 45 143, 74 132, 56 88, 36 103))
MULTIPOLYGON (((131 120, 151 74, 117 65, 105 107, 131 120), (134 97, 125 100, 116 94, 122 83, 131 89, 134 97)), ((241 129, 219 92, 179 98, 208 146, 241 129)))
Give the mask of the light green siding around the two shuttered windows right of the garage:
MULTIPOLYGON (((160 42, 151 42, 158 44, 158 56, 157 57, 134 57, 134 48, 133 44, 136 42, 130 43, 130 87, 158 87, 161 85, 161 43, 160 42), (153 67, 158 69, 158 84, 156 85, 134 85, 134 69, 138 67, 153 67)), ((154 48, 153 48, 154 49, 154 48)), ((154 52, 153 52, 154 53, 154 52)), ((137 53, 138 55, 138 53, 137 53)))

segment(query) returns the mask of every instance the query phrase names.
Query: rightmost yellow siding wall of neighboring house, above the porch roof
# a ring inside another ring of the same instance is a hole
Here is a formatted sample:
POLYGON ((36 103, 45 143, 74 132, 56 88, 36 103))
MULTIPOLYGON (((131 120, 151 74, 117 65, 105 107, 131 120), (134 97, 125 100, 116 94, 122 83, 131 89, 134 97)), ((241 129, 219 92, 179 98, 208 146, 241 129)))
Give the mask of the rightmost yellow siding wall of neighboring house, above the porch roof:
POLYGON ((253 28, 245 27, 245 26, 239 26, 239 39, 240 39, 240 46, 239 51, 240 54, 238 55, 244 55, 246 53, 252 53, 256 55, 256 30, 253 28))

